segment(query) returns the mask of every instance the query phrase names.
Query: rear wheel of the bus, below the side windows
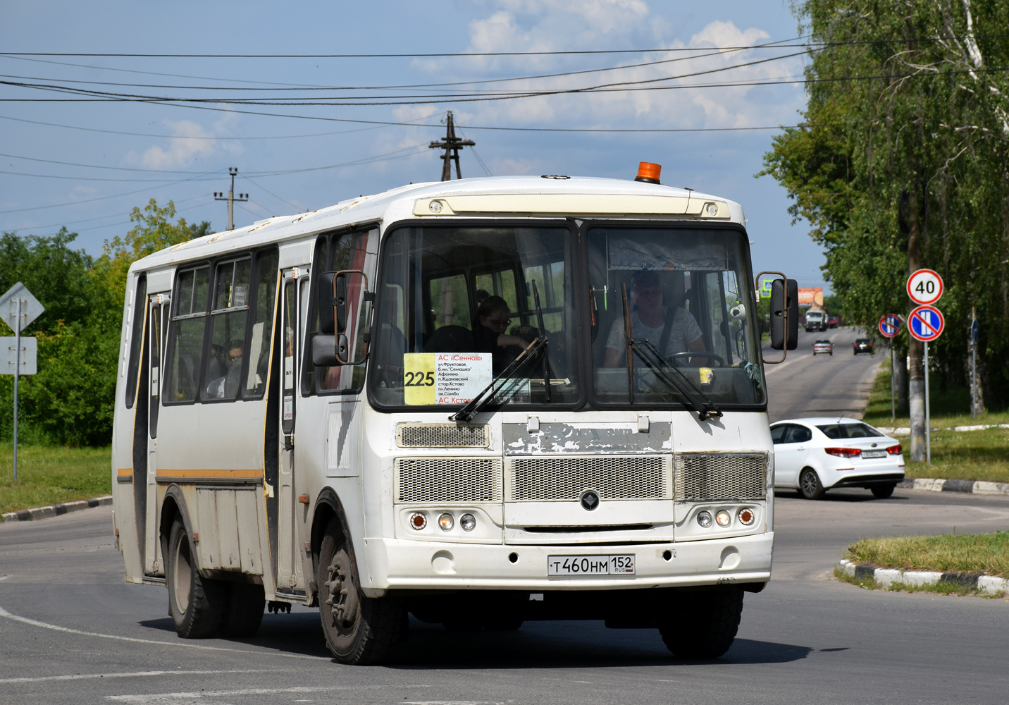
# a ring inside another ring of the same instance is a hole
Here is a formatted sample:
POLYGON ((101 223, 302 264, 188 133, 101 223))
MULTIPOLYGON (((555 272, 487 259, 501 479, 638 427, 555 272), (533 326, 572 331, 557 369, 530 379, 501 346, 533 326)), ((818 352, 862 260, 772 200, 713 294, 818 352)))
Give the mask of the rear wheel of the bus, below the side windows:
POLYGON ((186 524, 176 518, 169 533, 169 615, 183 638, 217 634, 227 605, 227 586, 200 575, 186 524))

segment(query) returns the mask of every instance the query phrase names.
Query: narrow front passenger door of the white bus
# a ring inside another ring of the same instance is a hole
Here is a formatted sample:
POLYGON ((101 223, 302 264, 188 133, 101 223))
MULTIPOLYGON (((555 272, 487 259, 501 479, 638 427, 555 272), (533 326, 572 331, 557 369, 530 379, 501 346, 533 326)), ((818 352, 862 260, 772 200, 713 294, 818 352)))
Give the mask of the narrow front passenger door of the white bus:
POLYGON ((277 444, 278 491, 276 537, 276 588, 288 592, 304 585, 298 550, 295 496, 295 415, 298 404, 298 279, 307 278, 308 268, 285 270, 281 280, 281 438, 277 444))

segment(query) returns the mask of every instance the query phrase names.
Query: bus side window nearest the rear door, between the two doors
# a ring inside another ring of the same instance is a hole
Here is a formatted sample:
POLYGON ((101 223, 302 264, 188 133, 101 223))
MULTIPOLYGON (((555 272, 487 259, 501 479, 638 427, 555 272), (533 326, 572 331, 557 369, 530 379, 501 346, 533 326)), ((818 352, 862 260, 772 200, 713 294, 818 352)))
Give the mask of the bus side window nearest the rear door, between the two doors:
POLYGON ((207 328, 210 267, 184 270, 176 275, 172 323, 169 332, 169 364, 163 371, 162 404, 190 402, 197 398, 207 328))

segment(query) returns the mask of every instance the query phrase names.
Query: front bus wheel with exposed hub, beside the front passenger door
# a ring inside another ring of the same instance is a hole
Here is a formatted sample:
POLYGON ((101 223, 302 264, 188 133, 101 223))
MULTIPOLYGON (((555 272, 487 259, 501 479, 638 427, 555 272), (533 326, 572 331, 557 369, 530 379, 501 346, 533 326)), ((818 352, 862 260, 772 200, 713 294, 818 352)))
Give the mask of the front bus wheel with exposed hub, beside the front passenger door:
POLYGON ((319 616, 330 653, 341 664, 383 661, 405 633, 405 605, 399 598, 364 597, 336 519, 323 535, 318 571, 319 616))

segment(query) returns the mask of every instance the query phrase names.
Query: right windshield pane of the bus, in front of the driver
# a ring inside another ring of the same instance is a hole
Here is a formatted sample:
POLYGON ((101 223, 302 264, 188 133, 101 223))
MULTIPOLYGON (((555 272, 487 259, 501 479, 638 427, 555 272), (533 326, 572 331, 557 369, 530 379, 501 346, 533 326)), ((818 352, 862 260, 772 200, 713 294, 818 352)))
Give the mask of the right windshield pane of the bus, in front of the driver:
POLYGON ((745 235, 738 230, 589 227, 595 400, 687 403, 670 376, 657 374, 638 353, 629 354, 631 337, 638 345, 647 340, 707 402, 763 403, 750 271, 745 235))

